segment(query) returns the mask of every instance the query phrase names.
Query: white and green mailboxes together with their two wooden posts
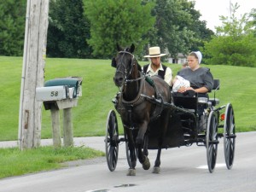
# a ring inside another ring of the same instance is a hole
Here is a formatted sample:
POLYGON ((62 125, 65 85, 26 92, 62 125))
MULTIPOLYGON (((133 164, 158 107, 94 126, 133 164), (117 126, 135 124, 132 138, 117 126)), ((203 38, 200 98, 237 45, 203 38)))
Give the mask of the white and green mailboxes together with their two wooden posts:
POLYGON ((38 102, 44 102, 45 110, 50 110, 52 120, 52 137, 55 148, 61 147, 60 110, 63 109, 63 143, 73 146, 72 108, 82 96, 82 78, 69 77, 46 81, 44 87, 38 87, 38 102))

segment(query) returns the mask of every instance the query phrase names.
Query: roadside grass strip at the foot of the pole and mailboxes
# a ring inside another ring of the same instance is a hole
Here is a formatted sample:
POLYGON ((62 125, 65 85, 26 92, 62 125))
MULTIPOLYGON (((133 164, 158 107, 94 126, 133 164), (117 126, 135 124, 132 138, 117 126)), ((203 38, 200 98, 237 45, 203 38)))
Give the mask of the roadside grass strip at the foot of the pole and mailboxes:
POLYGON ((59 169, 64 166, 61 163, 65 161, 85 160, 103 155, 100 151, 84 147, 54 149, 48 146, 24 151, 19 148, 0 148, 0 179, 59 169))

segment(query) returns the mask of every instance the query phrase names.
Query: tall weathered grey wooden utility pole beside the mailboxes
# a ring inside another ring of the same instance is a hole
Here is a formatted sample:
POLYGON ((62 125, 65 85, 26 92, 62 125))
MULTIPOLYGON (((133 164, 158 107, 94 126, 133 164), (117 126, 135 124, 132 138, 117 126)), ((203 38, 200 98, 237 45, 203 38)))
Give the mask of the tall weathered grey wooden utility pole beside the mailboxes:
POLYGON ((41 141, 42 103, 36 88, 44 86, 49 0, 27 0, 23 67, 20 85, 18 142, 21 150, 41 141))

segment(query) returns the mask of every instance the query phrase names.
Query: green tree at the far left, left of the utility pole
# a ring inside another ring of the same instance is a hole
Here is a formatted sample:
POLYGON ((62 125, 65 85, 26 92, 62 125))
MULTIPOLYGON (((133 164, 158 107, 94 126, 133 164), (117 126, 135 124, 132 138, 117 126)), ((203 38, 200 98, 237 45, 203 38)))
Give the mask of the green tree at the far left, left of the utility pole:
POLYGON ((0 55, 22 55, 26 0, 0 3, 0 55))

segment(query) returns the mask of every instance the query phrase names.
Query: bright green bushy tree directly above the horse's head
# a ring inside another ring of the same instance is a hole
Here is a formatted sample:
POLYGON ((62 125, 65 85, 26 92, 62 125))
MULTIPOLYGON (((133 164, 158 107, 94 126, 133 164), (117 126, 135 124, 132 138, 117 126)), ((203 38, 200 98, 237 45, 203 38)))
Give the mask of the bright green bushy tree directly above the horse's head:
POLYGON ((141 0, 88 0, 85 15, 90 20, 88 44, 93 55, 109 58, 115 53, 116 44, 136 45, 136 52, 143 49, 147 38, 143 36, 154 25, 150 15, 153 3, 141 0))

